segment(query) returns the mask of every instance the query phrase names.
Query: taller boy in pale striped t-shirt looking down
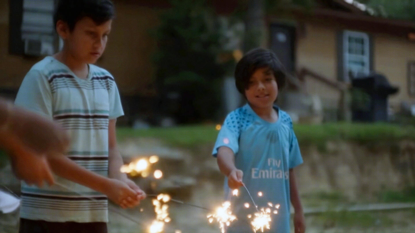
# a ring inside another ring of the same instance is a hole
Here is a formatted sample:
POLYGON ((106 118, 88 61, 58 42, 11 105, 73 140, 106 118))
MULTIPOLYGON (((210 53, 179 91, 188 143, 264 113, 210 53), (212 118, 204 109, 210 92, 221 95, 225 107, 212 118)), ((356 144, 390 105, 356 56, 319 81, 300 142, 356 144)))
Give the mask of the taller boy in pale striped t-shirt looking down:
POLYGON ((145 197, 120 172, 115 123, 124 113, 117 85, 93 65, 114 15, 110 0, 60 0, 54 23, 63 49, 36 63, 20 86, 15 103, 58 122, 71 141, 66 156, 48 156, 55 185, 22 184, 20 233, 105 233, 108 199, 126 208, 145 197))

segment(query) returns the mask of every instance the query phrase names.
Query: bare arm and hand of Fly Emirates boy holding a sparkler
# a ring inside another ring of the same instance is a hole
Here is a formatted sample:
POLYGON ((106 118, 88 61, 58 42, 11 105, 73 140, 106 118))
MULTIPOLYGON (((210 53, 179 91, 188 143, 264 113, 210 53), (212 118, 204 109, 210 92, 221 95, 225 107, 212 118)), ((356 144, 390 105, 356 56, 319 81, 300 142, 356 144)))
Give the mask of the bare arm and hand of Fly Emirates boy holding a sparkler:
POLYGON ((235 155, 227 146, 221 146, 217 150, 217 165, 219 170, 228 177, 228 186, 237 189, 243 185, 242 177, 244 172, 235 167, 235 155))

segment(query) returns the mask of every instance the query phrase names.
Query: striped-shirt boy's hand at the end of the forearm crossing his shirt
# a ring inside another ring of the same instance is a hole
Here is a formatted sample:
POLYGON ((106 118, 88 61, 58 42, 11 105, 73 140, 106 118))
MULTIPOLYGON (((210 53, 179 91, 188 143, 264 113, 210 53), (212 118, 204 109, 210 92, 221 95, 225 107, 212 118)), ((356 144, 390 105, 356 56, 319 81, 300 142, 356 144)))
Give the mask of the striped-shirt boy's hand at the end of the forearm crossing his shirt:
POLYGON ((121 180, 109 179, 104 194, 122 208, 132 208, 140 203, 137 191, 121 180))

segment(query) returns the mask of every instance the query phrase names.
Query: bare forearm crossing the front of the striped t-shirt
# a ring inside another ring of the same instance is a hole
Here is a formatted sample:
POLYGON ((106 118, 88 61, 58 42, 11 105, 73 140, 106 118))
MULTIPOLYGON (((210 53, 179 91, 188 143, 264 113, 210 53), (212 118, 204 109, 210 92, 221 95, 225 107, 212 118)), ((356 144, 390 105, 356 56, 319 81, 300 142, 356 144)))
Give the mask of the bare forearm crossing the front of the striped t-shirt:
POLYGON ((66 156, 48 156, 51 169, 56 175, 83 186, 105 193, 108 178, 91 172, 66 156))

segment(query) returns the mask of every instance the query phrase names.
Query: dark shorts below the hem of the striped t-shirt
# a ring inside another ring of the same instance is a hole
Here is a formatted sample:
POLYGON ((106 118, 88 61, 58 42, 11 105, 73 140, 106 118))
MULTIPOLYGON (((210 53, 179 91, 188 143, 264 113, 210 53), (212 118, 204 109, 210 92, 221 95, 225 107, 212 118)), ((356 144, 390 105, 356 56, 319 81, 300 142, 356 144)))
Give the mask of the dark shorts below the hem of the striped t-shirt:
POLYGON ((107 233, 107 223, 48 222, 20 218, 19 233, 107 233))

